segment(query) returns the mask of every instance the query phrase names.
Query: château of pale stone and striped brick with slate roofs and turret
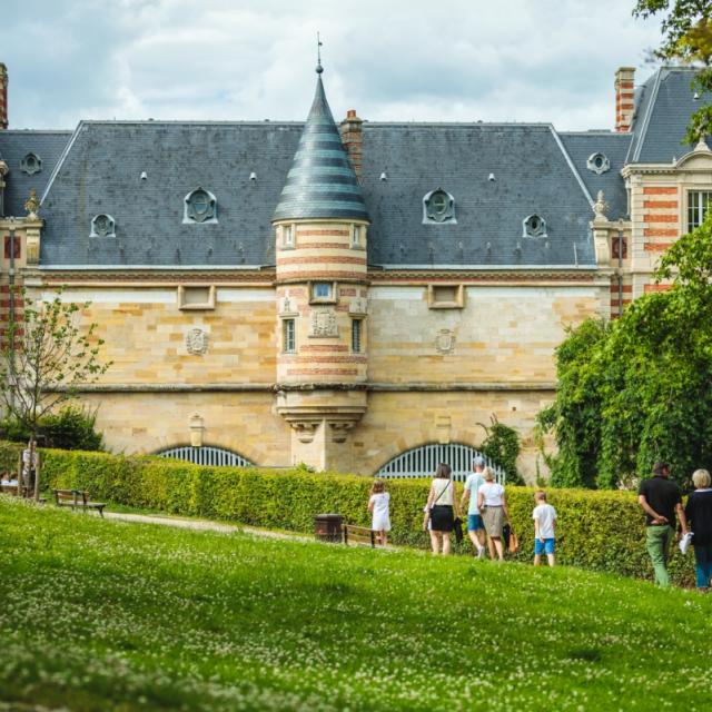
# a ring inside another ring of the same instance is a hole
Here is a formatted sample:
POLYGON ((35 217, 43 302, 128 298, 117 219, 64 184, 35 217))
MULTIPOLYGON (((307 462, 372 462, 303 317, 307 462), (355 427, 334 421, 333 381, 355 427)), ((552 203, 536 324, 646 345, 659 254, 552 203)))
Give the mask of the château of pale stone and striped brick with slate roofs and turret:
POLYGON ((533 478, 566 327, 659 288, 710 204, 712 151, 681 144, 691 79, 621 68, 614 130, 562 132, 337 123, 319 66, 304 123, 65 132, 8 128, 0 65, 3 314, 11 267, 91 301, 113 365, 82 399, 116 452, 411 472, 494 415, 533 478))

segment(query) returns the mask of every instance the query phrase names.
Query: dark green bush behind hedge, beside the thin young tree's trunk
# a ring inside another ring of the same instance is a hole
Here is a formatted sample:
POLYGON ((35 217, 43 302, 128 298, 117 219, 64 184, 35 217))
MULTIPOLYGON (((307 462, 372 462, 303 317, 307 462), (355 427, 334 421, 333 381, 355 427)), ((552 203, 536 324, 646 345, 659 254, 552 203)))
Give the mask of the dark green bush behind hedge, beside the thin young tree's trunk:
MULTIPOLYGON (((96 431, 96 412, 70 405, 40 419, 39 436, 47 447, 59 449, 103 449, 103 435, 96 431)), ((2 436, 14 443, 27 443, 30 431, 14 418, 0 424, 2 436)))

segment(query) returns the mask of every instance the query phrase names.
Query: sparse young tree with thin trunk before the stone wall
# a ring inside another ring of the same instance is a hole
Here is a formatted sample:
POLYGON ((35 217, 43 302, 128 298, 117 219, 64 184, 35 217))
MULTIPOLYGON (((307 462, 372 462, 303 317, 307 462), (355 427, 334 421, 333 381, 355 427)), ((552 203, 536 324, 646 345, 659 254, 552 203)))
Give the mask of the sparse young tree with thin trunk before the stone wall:
MULTIPOLYGON (((10 315, 0 350, 0 397, 7 414, 30 435, 30 462, 37 449, 41 421, 59 405, 77 396, 80 385, 93 383, 111 365, 102 363, 103 344, 96 324, 79 324, 81 305, 53 299, 34 301, 20 290, 23 308, 10 315)), ((34 497, 39 496, 39 476, 34 497)))

